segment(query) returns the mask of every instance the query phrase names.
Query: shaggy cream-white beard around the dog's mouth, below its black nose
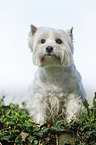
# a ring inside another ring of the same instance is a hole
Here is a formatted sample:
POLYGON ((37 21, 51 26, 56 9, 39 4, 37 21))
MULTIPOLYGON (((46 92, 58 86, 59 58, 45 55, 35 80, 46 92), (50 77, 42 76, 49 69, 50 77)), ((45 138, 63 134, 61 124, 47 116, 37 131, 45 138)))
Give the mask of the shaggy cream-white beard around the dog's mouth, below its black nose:
POLYGON ((33 51, 33 63, 41 67, 70 65, 73 63, 73 57, 71 50, 68 46, 66 47, 54 46, 54 51, 48 54, 46 47, 37 46, 33 51))

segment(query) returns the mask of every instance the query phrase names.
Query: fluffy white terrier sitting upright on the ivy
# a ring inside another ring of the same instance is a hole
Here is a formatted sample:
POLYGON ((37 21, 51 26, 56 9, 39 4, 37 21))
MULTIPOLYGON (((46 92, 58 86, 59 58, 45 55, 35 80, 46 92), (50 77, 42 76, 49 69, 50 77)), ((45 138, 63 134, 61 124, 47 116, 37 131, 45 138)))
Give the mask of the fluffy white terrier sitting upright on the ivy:
POLYGON ((85 99, 81 77, 73 62, 72 28, 67 31, 31 25, 29 47, 38 66, 27 96, 34 121, 73 119, 85 99))

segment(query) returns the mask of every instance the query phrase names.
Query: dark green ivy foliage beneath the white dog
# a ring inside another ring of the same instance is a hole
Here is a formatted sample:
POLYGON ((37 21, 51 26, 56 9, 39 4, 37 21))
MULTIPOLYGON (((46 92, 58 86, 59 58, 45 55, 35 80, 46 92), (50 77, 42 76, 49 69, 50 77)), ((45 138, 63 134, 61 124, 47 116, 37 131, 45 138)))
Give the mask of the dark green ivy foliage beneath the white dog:
MULTIPOLYGON (((74 145, 95 145, 96 93, 93 107, 90 109, 85 100, 86 112, 76 121, 58 120, 42 126, 33 122, 24 102, 23 109, 12 103, 5 106, 4 98, 0 101, 0 145, 58 145, 58 137, 62 134, 74 138, 74 145)), ((63 140, 62 145, 70 143, 63 140)))

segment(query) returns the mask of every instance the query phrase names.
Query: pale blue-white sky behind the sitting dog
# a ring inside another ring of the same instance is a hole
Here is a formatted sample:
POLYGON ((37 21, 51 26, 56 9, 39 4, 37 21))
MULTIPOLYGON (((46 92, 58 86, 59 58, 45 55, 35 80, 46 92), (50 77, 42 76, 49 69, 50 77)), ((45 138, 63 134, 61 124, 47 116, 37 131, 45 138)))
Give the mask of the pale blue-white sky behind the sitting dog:
POLYGON ((33 81, 30 24, 73 27, 74 62, 90 100, 96 91, 96 0, 0 0, 0 96, 18 100, 33 81))

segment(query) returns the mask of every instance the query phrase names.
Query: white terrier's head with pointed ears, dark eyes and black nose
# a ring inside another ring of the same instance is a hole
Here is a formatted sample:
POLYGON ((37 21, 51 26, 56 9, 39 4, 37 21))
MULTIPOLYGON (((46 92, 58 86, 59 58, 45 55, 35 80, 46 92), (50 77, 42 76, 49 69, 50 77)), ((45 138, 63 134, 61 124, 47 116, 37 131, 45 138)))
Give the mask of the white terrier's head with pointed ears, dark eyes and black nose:
POLYGON ((41 67, 67 66, 73 63, 72 29, 66 32, 31 25, 29 47, 33 63, 41 67))

